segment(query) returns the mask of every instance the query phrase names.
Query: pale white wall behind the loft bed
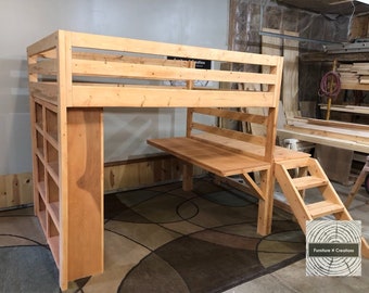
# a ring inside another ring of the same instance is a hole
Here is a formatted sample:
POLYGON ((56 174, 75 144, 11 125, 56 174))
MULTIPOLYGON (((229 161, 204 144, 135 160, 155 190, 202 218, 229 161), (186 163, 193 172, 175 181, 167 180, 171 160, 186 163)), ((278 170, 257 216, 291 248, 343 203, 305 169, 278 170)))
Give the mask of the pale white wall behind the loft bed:
MULTIPOLYGON (((0 0, 0 175, 31 170, 26 48, 56 29, 227 48, 228 0, 0 0)), ((182 135, 183 110, 106 110, 105 162, 182 135)))

